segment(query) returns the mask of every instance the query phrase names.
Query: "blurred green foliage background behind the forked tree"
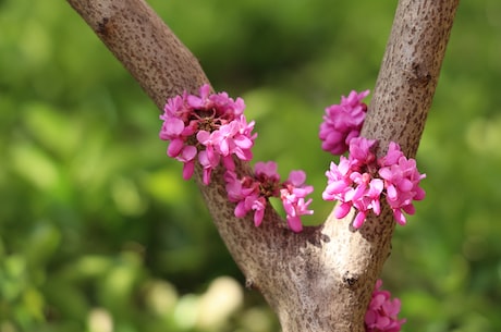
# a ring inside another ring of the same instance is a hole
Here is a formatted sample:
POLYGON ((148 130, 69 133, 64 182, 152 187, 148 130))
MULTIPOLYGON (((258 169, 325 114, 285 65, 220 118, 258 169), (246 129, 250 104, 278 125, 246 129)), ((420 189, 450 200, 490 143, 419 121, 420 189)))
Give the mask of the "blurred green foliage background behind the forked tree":
MULTIPOLYGON (((323 108, 374 87, 395 1, 150 4, 245 98, 256 160, 307 171, 322 220, 323 108)), ((417 157, 428 196, 383 271, 404 331, 501 331, 500 56, 501 2, 464 1, 417 157)), ((160 125, 65 1, 0 0, 0 332, 278 331, 160 125)))

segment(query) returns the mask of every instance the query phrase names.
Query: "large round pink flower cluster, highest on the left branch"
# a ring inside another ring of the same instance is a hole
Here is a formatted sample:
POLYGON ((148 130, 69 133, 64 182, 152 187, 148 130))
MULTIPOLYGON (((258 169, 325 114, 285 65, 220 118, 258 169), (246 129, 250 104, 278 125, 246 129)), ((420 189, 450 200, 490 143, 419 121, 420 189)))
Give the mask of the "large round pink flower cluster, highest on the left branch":
POLYGON ((200 87, 199 96, 184 93, 168 100, 160 115, 163 124, 159 136, 170 140, 167 155, 184 163, 185 180, 192 177, 197 157, 205 184, 220 162, 234 170, 233 156, 252 159, 257 135, 252 133, 254 122, 247 123, 244 109, 242 98, 233 100, 227 93, 211 95, 207 84, 200 87))

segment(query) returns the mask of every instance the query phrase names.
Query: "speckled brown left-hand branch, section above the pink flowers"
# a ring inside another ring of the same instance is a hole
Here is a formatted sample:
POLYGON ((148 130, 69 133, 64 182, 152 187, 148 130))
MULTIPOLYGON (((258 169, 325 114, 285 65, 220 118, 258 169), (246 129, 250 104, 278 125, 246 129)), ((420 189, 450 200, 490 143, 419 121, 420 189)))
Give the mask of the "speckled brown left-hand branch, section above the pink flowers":
POLYGON ((208 83, 196 58, 142 0, 68 0, 163 110, 167 98, 208 83))

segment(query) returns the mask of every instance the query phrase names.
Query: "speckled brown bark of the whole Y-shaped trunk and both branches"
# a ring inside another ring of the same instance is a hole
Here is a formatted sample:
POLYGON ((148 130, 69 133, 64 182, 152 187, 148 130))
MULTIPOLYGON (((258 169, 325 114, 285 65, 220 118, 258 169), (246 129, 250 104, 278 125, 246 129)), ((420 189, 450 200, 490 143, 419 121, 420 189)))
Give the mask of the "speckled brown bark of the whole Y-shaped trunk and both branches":
MULTIPOLYGON (((68 0, 161 110, 168 97, 208 83, 197 60, 143 0, 68 0)), ((459 0, 401 0, 362 135, 416 153, 459 0)), ((315 133, 313 133, 315 134, 315 133)), ((327 165, 326 165, 327 168, 327 165)), ((239 163, 248 173, 246 163, 239 163)), ((284 332, 364 331, 375 281, 390 254, 388 207, 361 230, 332 214, 294 234, 271 209, 260 228, 236 219, 221 173, 198 185, 219 233, 284 332)))

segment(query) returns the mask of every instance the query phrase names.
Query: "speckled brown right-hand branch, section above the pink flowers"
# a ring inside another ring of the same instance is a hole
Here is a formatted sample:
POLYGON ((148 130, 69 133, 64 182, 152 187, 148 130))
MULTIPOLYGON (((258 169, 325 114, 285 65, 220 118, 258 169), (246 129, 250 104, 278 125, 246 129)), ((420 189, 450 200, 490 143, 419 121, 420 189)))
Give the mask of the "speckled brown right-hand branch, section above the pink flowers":
POLYGON ((459 0, 401 0, 363 136, 393 140, 407 157, 419 145, 459 0))

